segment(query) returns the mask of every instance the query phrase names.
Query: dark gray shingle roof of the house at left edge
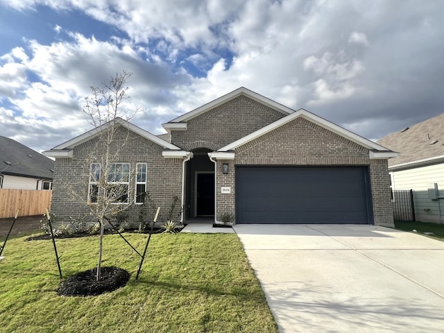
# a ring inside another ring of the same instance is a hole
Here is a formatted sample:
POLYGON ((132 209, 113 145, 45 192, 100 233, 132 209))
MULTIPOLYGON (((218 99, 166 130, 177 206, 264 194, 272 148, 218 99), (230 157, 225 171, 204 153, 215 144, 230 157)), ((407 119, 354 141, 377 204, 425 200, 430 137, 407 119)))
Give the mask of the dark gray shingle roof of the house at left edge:
POLYGON ((53 169, 50 158, 0 135, 0 174, 52 180, 53 169))

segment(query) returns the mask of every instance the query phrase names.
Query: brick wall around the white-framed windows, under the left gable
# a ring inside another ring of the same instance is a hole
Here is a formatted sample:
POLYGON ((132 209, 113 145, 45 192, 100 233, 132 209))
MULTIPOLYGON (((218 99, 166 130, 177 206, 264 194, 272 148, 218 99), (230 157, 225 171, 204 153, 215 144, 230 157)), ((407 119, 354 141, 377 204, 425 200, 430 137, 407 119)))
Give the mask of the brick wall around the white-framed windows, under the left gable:
MULTIPOLYGON (((147 164, 146 189, 153 198, 155 205, 160 205, 161 214, 170 209, 173 196, 182 198, 182 158, 165 159, 162 146, 140 137, 124 128, 119 128, 114 142, 115 152, 119 146, 120 153, 110 159, 111 162, 130 163, 130 200, 135 195, 135 165, 138 162, 147 164)), ((99 139, 90 139, 74 148, 72 158, 57 158, 53 180, 52 213, 59 222, 94 221, 89 215, 87 191, 89 184, 89 166, 92 162, 100 162, 102 154, 98 151, 99 139)), ((177 208, 180 210, 181 201, 177 208)), ((131 200, 133 201, 133 200, 131 200)), ((141 205, 131 205, 125 211, 128 222, 138 225, 141 205)), ((145 206, 144 209, 148 210, 145 206)), ((153 221, 153 210, 148 210, 147 221, 153 221)))

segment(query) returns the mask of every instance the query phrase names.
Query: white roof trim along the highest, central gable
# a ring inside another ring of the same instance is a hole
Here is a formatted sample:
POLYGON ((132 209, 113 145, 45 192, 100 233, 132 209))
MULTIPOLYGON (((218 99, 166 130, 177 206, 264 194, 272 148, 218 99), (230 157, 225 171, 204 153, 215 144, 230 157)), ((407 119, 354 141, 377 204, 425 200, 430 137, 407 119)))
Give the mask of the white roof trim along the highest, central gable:
POLYGON ((233 90, 232 92, 229 92, 228 94, 225 94, 219 99, 215 99, 214 101, 211 101, 210 103, 207 103, 205 105, 200 106, 199 108, 196 108, 190 112, 187 112, 185 114, 182 114, 182 116, 177 117, 168 123, 163 123, 162 126, 164 128, 175 128, 176 126, 173 125, 174 123, 182 123, 187 122, 190 119, 193 119, 194 117, 200 116, 200 114, 203 114, 207 111, 212 110, 213 108, 216 108, 217 106, 226 103, 228 101, 231 101, 232 99, 235 99, 239 96, 247 96, 250 99, 253 99, 261 104, 267 105, 268 107, 278 110, 279 112, 282 112, 283 114, 291 114, 294 112, 291 108, 287 108, 287 106, 284 106, 280 103, 277 103, 271 99, 267 99, 266 97, 257 94, 256 92, 252 92, 251 90, 247 89, 246 87, 240 87, 236 90, 233 90))

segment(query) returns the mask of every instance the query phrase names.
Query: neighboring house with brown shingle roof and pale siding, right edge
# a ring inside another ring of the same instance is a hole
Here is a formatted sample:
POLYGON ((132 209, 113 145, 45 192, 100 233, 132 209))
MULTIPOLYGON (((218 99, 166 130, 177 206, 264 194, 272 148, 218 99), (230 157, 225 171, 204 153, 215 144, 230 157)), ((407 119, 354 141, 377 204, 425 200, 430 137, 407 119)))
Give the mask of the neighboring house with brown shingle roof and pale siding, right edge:
POLYGON ((404 128, 378 144, 398 151, 388 161, 393 190, 413 189, 417 221, 444 222, 444 114, 404 128))

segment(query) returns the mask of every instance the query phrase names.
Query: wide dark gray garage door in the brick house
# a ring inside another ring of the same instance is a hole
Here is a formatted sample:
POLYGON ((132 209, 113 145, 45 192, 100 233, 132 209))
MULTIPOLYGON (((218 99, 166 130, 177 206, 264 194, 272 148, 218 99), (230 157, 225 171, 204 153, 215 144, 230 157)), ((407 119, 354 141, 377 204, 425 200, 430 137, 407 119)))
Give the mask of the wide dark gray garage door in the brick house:
POLYGON ((237 223, 373 223, 367 167, 237 167, 237 223))

